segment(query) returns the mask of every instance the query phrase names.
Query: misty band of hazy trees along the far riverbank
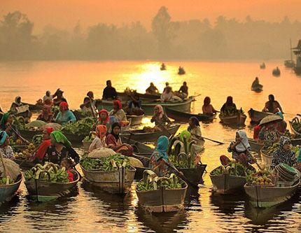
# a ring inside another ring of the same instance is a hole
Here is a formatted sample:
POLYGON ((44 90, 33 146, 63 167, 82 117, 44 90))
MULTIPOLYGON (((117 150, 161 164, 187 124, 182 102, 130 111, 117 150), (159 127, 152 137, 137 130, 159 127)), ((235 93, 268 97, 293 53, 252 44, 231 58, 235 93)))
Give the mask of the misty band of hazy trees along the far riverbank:
POLYGON ((131 24, 99 24, 72 30, 51 25, 33 34, 34 22, 15 11, 0 21, 0 60, 250 60, 290 59, 290 44, 301 38, 301 22, 284 17, 281 22, 241 22, 219 16, 215 22, 173 21, 162 6, 153 16, 151 29, 131 24))

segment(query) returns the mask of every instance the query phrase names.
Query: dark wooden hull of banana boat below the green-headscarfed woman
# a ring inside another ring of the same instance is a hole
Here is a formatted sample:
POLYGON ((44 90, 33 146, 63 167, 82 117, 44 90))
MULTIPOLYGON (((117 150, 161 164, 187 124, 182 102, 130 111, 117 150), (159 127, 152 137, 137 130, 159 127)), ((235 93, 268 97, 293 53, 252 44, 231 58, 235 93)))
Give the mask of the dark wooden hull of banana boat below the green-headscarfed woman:
POLYGON ((25 186, 31 199, 34 199, 37 202, 48 202, 69 194, 74 188, 76 188, 79 180, 80 175, 76 172, 74 181, 70 183, 56 183, 35 179, 26 181, 25 186))

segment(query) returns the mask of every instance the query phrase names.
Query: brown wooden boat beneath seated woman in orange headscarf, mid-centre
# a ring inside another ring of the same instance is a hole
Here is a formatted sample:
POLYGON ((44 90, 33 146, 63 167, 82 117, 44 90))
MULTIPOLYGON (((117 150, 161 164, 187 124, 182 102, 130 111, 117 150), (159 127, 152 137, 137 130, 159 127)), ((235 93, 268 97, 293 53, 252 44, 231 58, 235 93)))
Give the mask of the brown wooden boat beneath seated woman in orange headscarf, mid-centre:
POLYGON ((129 132, 123 132, 123 136, 127 137, 128 139, 132 139, 134 141, 140 141, 140 142, 156 142, 159 138, 159 136, 165 135, 170 136, 176 134, 179 127, 181 125, 173 125, 169 128, 167 128, 169 134, 165 132, 165 130, 160 132, 144 132, 143 129, 135 129, 131 130, 129 132))

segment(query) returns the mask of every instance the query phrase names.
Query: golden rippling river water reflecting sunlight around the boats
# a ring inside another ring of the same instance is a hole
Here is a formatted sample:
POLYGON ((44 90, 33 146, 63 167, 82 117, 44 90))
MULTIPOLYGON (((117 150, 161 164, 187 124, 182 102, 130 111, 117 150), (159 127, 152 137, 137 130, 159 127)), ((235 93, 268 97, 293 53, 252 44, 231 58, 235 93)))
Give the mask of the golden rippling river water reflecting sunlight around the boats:
MULTIPOLYGON (((301 113, 301 77, 295 76, 279 62, 168 62, 167 71, 160 71, 160 62, 6 62, 0 63, 0 104, 7 110, 16 96, 34 103, 46 90, 58 87, 71 108, 78 108, 87 91, 102 97, 106 80, 110 79, 118 91, 125 87, 144 92, 150 82, 159 90, 169 82, 177 90, 184 80, 190 94, 196 97, 192 111, 199 113, 204 97, 219 109, 228 95, 245 112, 249 108, 262 109, 268 94, 281 103, 285 120, 301 113), (178 76, 177 68, 184 66, 186 75, 178 76), (281 76, 272 76, 279 66, 281 76), (255 76, 260 78, 263 92, 251 92, 255 76)), ((148 124, 149 118, 144 120, 148 124)), ((186 128, 183 125, 181 128, 186 128)), ((202 134, 225 142, 218 146, 207 141, 202 162, 207 171, 219 165, 219 155, 227 153, 228 143, 235 137, 236 128, 214 122, 202 124, 202 134)), ((252 135, 249 119, 245 129, 252 135)), ((258 157, 260 162, 260 157, 258 157)), ((272 209, 254 209, 241 193, 221 196, 211 192, 209 174, 204 174, 204 187, 198 192, 188 190, 185 208, 178 213, 150 214, 138 205, 134 192, 125 197, 109 195, 79 183, 78 190, 55 202, 35 203, 27 198, 22 183, 18 195, 0 206, 0 232, 301 232, 300 192, 290 201, 272 209)))

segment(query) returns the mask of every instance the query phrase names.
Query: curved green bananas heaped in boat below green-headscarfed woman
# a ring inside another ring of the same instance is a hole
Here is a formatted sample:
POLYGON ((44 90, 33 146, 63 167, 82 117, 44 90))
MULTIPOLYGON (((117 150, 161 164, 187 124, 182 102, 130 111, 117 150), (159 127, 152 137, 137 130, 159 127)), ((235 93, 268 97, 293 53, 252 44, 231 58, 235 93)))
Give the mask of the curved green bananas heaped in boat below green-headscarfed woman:
POLYGON ((57 183, 69 183, 68 173, 64 167, 60 168, 58 164, 46 162, 44 166, 36 164, 30 170, 25 171, 25 181, 41 180, 57 183))

